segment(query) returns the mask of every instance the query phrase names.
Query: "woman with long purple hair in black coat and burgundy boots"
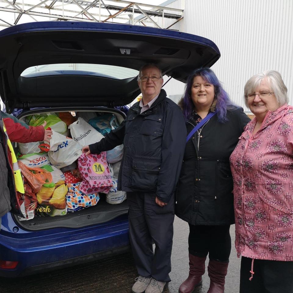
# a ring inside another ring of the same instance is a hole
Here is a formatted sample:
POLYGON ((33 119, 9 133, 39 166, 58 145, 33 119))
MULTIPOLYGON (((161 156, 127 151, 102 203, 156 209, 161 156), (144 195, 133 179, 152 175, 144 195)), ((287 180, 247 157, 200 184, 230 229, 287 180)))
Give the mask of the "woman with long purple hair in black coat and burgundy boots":
POLYGON ((210 117, 186 143, 177 186, 176 215, 188 222, 190 229, 189 276, 179 293, 191 293, 202 284, 207 255, 208 293, 223 293, 231 252, 229 230, 234 223, 229 157, 250 119, 232 103, 209 68, 190 75, 179 106, 187 133, 210 117))

